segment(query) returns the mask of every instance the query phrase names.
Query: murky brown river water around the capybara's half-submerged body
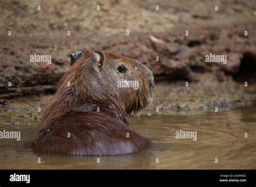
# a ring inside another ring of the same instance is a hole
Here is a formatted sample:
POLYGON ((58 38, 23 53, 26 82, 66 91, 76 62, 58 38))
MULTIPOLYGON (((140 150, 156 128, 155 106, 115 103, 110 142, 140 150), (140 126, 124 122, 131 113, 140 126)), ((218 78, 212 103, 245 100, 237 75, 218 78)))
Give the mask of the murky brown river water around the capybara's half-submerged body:
POLYGON ((133 130, 153 145, 145 152, 119 156, 36 156, 27 148, 35 139, 35 124, 0 127, 22 134, 21 141, 1 140, 0 169, 256 169, 255 111, 256 106, 251 106, 187 116, 130 117, 133 130), (196 131, 197 140, 176 139, 180 130, 196 131))

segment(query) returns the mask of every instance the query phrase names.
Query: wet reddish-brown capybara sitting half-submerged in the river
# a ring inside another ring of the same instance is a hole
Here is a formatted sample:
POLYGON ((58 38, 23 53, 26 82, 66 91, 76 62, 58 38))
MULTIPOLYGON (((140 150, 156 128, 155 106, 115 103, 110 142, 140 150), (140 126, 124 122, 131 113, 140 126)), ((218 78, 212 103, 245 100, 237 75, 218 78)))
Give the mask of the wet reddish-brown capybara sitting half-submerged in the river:
POLYGON ((131 130, 127 116, 152 102, 152 72, 137 60, 99 50, 70 58, 32 152, 120 155, 149 147, 147 138, 131 130))

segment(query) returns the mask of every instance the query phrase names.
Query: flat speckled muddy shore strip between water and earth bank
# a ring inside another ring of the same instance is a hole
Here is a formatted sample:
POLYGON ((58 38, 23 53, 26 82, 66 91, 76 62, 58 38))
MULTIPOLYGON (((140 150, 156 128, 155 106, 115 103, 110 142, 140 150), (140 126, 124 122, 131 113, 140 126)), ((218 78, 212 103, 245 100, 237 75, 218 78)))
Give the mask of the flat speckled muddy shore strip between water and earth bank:
MULTIPOLYGON (((256 103, 256 88, 234 82, 191 83, 181 81, 156 85, 153 104, 140 114, 193 114, 227 111, 256 103)), ((52 95, 34 95, 0 99, 1 126, 38 125, 52 95)))

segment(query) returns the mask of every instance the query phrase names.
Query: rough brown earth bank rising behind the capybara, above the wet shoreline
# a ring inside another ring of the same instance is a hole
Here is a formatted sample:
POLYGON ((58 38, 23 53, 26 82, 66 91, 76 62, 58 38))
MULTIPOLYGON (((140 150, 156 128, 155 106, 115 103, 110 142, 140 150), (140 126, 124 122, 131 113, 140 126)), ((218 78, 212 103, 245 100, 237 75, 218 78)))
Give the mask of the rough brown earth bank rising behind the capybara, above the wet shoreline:
POLYGON ((68 55, 92 49, 142 61, 156 82, 256 80, 256 1, 1 1, 0 11, 0 97, 52 92, 68 55), (52 63, 31 63, 35 53, 52 63), (206 63, 210 53, 227 64, 206 63))

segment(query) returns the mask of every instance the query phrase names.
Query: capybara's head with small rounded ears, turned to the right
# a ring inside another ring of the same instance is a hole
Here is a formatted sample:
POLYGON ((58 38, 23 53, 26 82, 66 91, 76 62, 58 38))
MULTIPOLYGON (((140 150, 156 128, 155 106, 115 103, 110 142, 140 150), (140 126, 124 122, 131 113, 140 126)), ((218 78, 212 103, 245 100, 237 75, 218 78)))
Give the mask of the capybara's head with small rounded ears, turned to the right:
POLYGON ((57 94, 64 90, 74 92, 86 102, 114 99, 127 114, 151 103, 154 77, 139 61, 99 50, 76 52, 70 57, 71 68, 63 77, 57 94))

